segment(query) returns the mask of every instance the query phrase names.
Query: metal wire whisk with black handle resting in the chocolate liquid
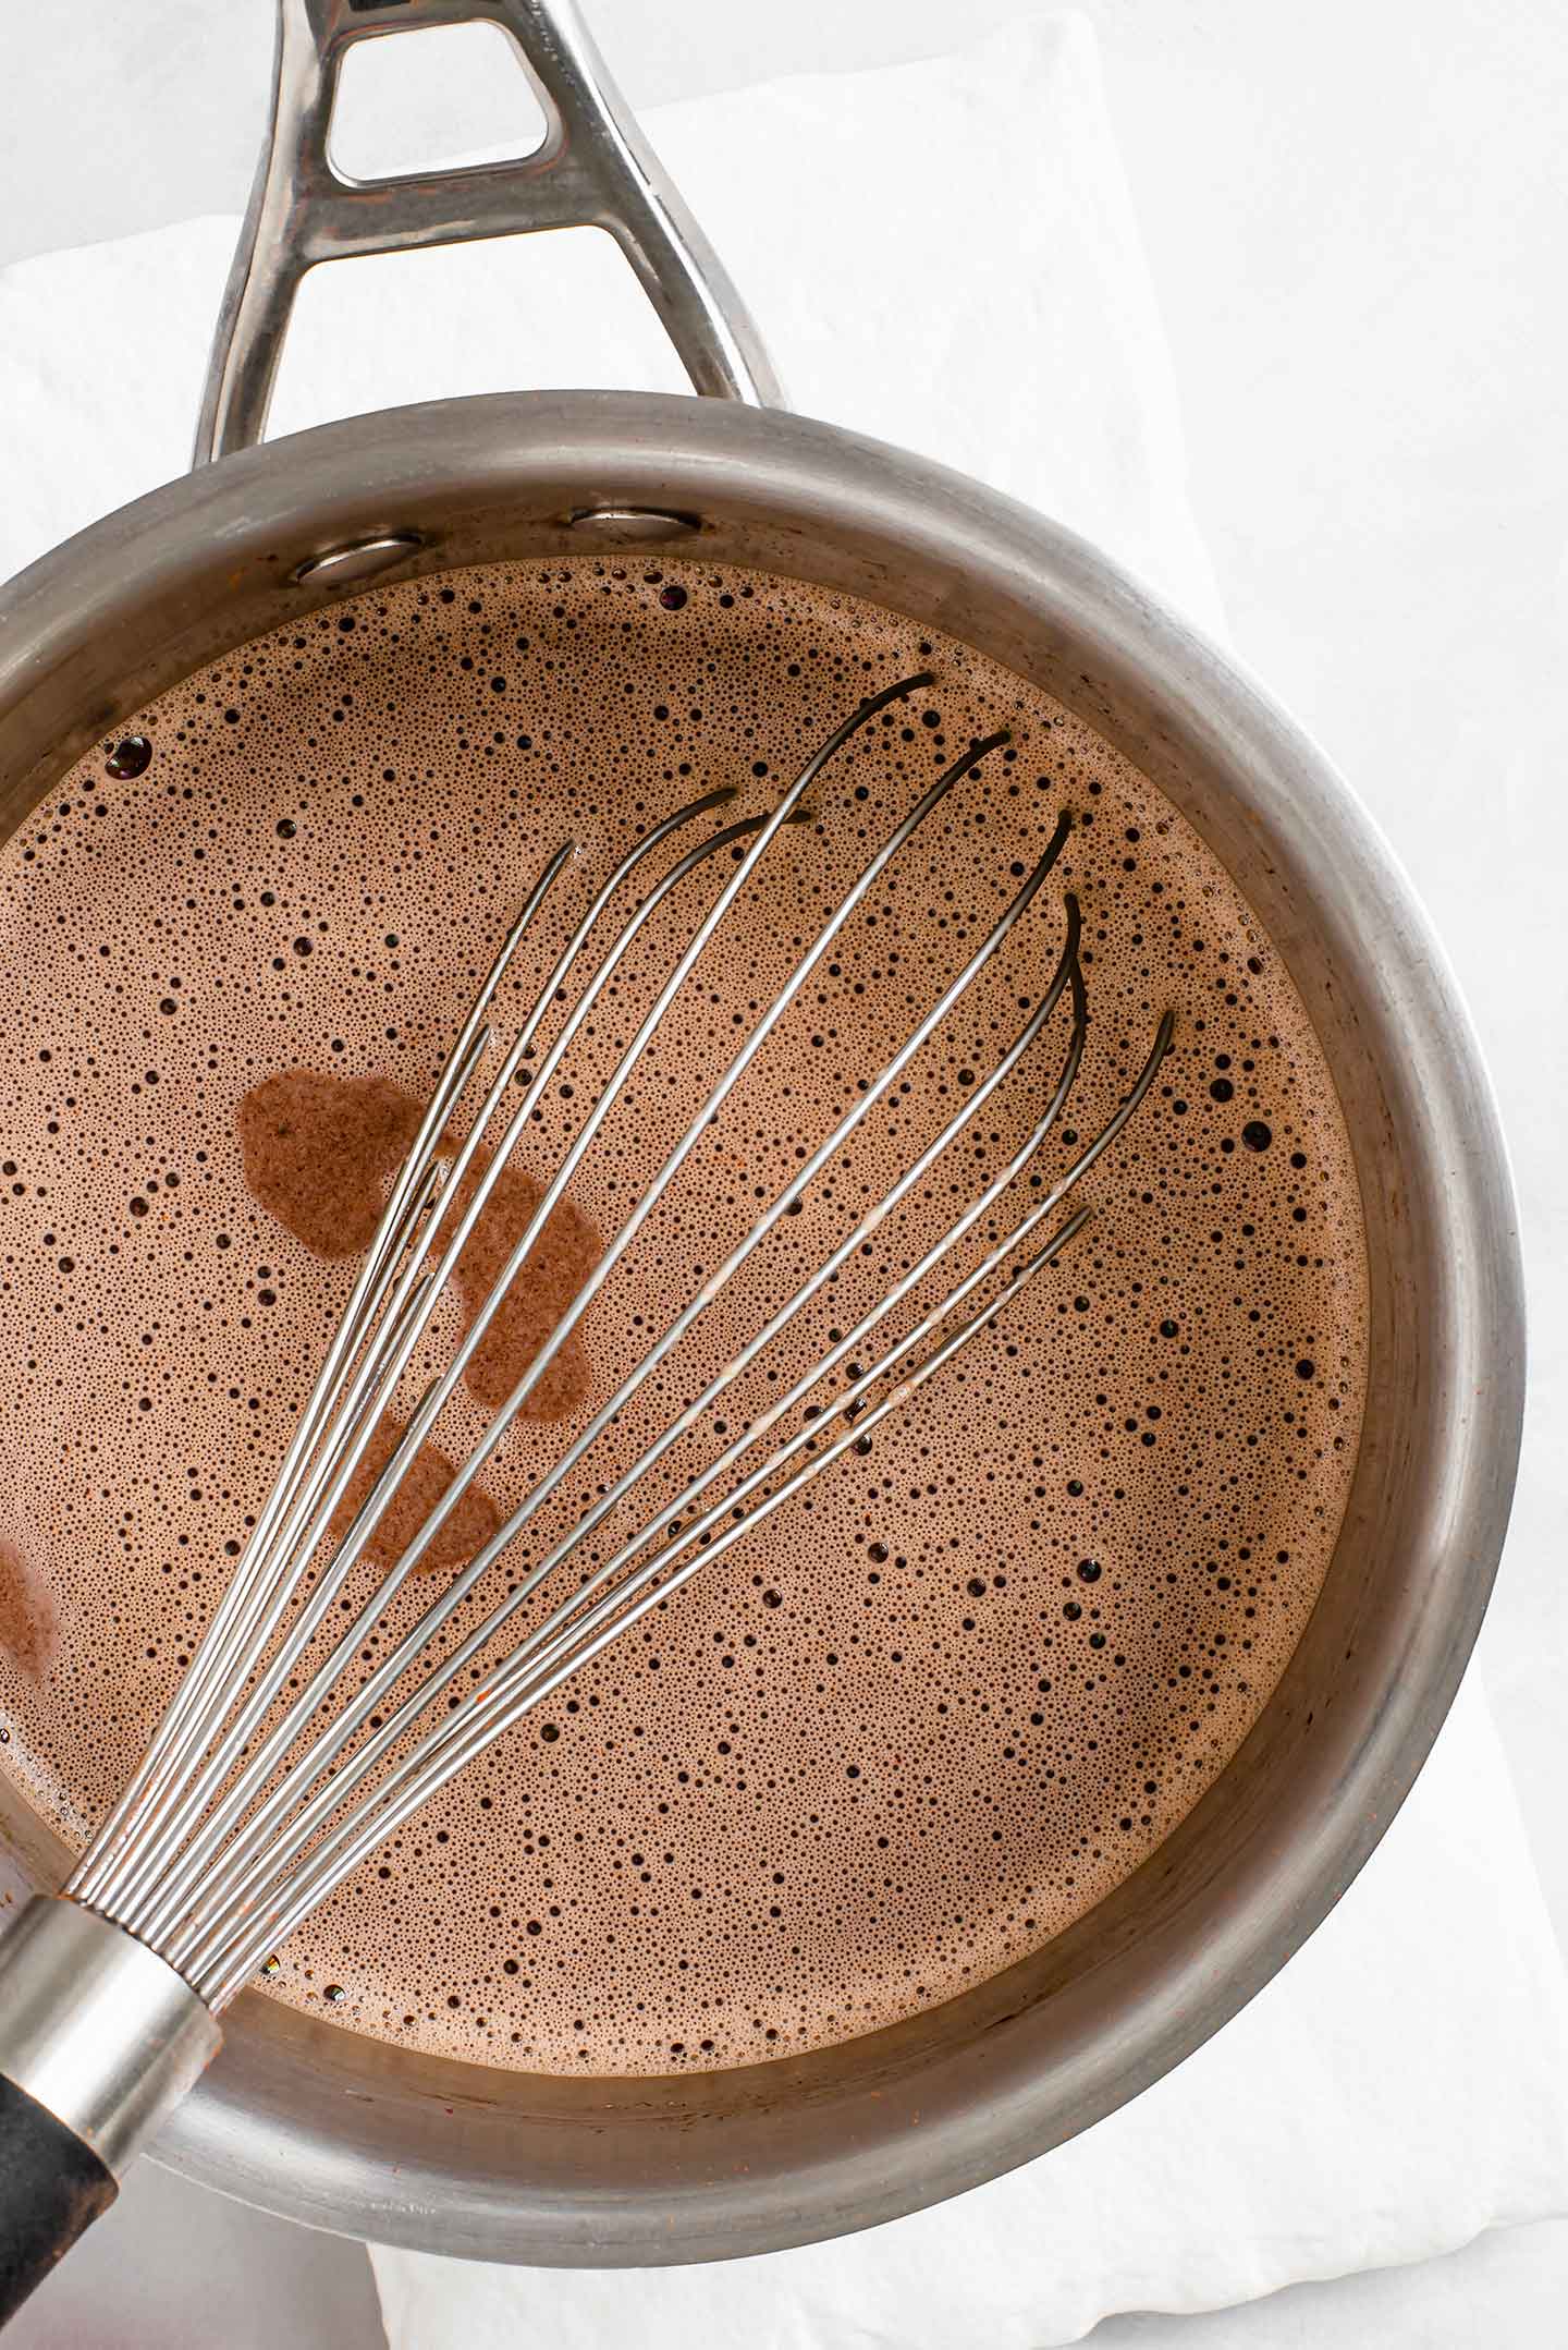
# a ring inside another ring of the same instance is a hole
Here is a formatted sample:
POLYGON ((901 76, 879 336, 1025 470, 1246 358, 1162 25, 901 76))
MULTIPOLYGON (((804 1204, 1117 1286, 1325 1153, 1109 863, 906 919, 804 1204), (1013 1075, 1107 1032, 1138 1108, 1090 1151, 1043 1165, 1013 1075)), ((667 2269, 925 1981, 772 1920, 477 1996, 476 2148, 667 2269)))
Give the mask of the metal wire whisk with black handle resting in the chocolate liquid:
POLYGON ((1070 1194, 1138 1109, 1169 1050, 1174 1022, 1169 1013, 1160 1020, 1131 1088, 1099 1133, 1075 1144, 1066 1170, 1049 1182, 1038 1175, 1033 1163, 1061 1121, 1089 1027, 1080 959, 1082 919, 1068 891, 1061 900, 1063 940, 1052 978, 1033 1006, 1021 999, 1026 1018, 995 1067, 965 1090, 958 1109, 890 1189, 857 1217, 702 1391, 669 1417, 563 1535, 547 1544, 538 1563, 507 1586, 472 1631, 448 1652, 439 1652, 446 1626, 488 1570, 549 1499, 570 1485, 603 1431, 646 1389, 779 1220, 800 1206, 807 1187, 845 1149, 876 1104, 885 1102, 890 1088, 899 1086, 965 992, 1005 949, 1070 837, 1073 818, 1063 811, 1033 870, 1023 874, 962 968, 885 1065, 866 1076, 791 1182, 777 1191, 725 1260, 704 1274, 697 1292, 681 1304, 641 1361, 563 1445, 559 1459, 538 1476, 512 1516, 439 1589, 411 1629, 390 1643, 376 1668, 364 1680, 354 1678, 357 1661, 397 1593, 481 1476, 596 1292, 613 1278, 685 1159, 721 1119, 725 1100, 768 1036, 831 954, 833 940, 946 794, 1007 743, 1005 731, 974 740, 927 785, 866 860, 772 1001, 751 1022, 674 1149, 638 1191, 631 1213, 608 1238, 592 1274, 469 1457, 455 1469, 376 1591, 352 1610, 345 1589, 387 1504, 709 940, 770 844, 786 825, 805 818, 807 792, 833 757, 883 710, 930 684, 934 677, 922 670, 861 700, 768 813, 725 818, 737 799, 737 792, 725 787, 655 822, 587 905, 547 971, 521 1032, 502 1053, 467 1135, 453 1142, 453 1116, 481 1076, 493 1043, 491 1010, 498 989, 514 968, 545 900, 573 865, 573 844, 563 844, 545 865, 446 1055, 277 1480, 143 1762, 63 1894, 35 1899, 0 1946, 0 2317, 113 2200, 136 2148, 216 2052, 221 2040, 216 2016, 256 1976, 275 1946, 493 1739, 688 1577, 714 1570, 728 1549, 786 1506, 852 1445, 861 1445, 908 1396, 937 1377, 1009 1297, 1038 1278, 1084 1224, 1089 1208, 1075 1206, 1070 1194), (704 820, 718 820, 716 830, 704 830, 704 820), (671 851, 671 860, 664 862, 671 851), (354 1509, 347 1532, 333 1544, 329 1530, 340 1523, 354 1478, 364 1476, 366 1455, 383 1429, 392 1396, 523 1135, 530 1104, 563 1065, 570 1067, 575 1039, 594 1008, 603 1006, 627 954, 664 900, 699 867, 718 860, 721 870, 725 858, 728 879, 657 987, 608 1081, 582 1114, 462 1342, 420 1394, 392 1455, 354 1509), (631 900, 629 912, 617 912, 624 898, 631 900), (608 931, 608 942, 601 942, 601 931, 608 931), (1019 1069, 1063 999, 1068 1039, 1049 1093, 1030 1130, 984 1189, 965 1201, 946 1231, 918 1262, 899 1271, 852 1328, 833 1330, 819 1358, 800 1377, 782 1384, 782 1394, 749 1417, 674 1499, 662 1499, 608 1558, 596 1560, 573 1589, 566 1589, 568 1570, 582 1558, 594 1532, 650 1469, 704 1424, 709 1434, 725 1434, 716 1408, 732 1384, 744 1379, 786 1325, 866 1250, 878 1227, 922 1184, 941 1154, 1019 1069), (552 1041, 542 1043, 561 1003, 568 1008, 552 1041), (505 1121, 498 1140, 484 1144, 498 1121, 505 1121), (481 1147, 488 1149, 488 1159, 469 1182, 481 1147), (1007 1222, 1007 1198, 1014 1191, 1026 1191, 1026 1203, 1007 1222), (974 1246, 967 1253, 962 1248, 972 1234, 984 1243, 979 1257, 974 1246), (967 1271, 953 1278, 934 1304, 920 1307, 915 1292, 953 1262, 965 1262, 967 1271), (906 1300, 918 1316, 911 1328, 901 1328, 897 1316, 906 1300), (512 1647, 502 1647, 498 1636, 514 1626, 552 1577, 556 1579, 552 1589, 563 1591, 559 1603, 516 1636, 512 1647), (350 1610, 352 1622, 322 1638, 324 1629, 350 1610), (324 1647, 317 1661, 312 1661, 315 1647, 324 1647), (411 1685, 397 1694, 408 1676, 411 1685))

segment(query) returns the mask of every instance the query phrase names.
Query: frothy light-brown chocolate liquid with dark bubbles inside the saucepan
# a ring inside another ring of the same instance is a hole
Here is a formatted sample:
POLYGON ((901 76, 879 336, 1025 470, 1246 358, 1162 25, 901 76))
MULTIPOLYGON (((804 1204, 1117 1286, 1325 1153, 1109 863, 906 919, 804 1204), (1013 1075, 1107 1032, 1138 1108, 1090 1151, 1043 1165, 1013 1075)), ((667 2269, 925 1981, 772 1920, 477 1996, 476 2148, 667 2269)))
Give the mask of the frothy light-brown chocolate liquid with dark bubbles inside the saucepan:
MULTIPOLYGON (((491 1596, 995 1065, 1056 964, 1063 888, 1082 900, 1091 1020, 1047 1180, 1176 1010, 1155 1090, 1082 1187, 1094 1220, 866 1452, 376 1854, 284 1946, 277 1998, 530 2070, 667 2073, 845 2040, 1005 1967, 1136 1868, 1235 1753, 1303 1631, 1354 1466, 1364 1241, 1322 1053, 1225 872, 1045 693, 885 611, 699 564, 519 564, 369 595, 242 649, 120 728, 153 745, 143 773, 108 773, 103 745, 0 860, 0 1760, 85 1840, 223 1589, 347 1297, 352 1260, 317 1255, 246 1189, 239 1102, 296 1069, 427 1097, 563 837, 580 860, 502 996, 507 1036, 653 820, 728 783, 765 808, 864 693, 920 667, 937 684, 831 764, 815 822, 777 839, 589 1154, 575 1203, 601 1234, 930 778, 993 726, 1012 745, 901 851, 589 1309, 587 1403, 509 1434, 486 1471, 500 1509, 789 1187, 1070 808, 1063 860, 906 1090, 493 1570, 491 1596)), ((643 933, 570 1088, 535 1104, 521 1173, 549 1177, 721 877, 707 867, 643 933)), ((777 1379, 1016 1147, 1066 1041, 1063 1006, 779 1342, 777 1379)), ((465 1321, 453 1292, 406 1396, 465 1321)), ((768 1394, 758 1368, 721 1408, 728 1431, 768 1394)), ((484 1419, 460 1389, 446 1455, 484 1419)), ((592 1556, 718 1441, 648 1478, 592 1556)), ((399 1598, 397 1633, 430 1589, 399 1598)), ((474 1622, 469 1603, 453 1638, 474 1622)))

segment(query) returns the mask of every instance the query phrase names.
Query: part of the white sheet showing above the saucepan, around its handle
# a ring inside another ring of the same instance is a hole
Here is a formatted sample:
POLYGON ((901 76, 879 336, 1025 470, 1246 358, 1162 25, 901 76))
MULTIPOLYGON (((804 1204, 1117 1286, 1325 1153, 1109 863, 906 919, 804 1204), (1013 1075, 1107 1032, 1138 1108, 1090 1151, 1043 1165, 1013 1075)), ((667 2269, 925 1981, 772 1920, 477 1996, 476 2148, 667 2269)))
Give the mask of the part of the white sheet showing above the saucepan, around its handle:
MULTIPOLYGON (((648 125, 793 409, 1007 489, 1218 625, 1084 24, 648 125)), ((232 249, 209 219, 0 270, 0 578, 185 470, 232 249)), ((336 263, 300 289, 270 430, 582 383, 688 388, 596 230, 336 263)))

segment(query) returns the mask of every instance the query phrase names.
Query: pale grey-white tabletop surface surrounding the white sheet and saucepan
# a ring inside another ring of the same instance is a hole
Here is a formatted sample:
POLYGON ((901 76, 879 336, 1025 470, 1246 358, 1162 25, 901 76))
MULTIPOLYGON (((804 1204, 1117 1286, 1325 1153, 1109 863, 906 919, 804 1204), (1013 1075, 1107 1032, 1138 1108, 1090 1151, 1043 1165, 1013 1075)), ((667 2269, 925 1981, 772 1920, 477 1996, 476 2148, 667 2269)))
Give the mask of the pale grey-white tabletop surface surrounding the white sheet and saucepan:
MULTIPOLYGON (((589 0, 589 14, 622 87, 650 106, 934 54, 1028 5, 967 0, 958 21, 939 0, 589 0)), ((1390 778, 1422 778, 1427 820, 1406 820, 1397 848, 1495 1072, 1535 1314, 1526 1466, 1481 1654, 1568 1943, 1568 1448, 1554 1426, 1568 1405, 1568 1184, 1554 1159, 1568 1072, 1568 21, 1559 0, 1082 7, 1232 637, 1373 813, 1390 778)), ((237 212, 270 16, 270 0, 12 0, 0 263, 237 212)), ((406 160, 498 143, 516 120, 500 82, 465 122, 420 125, 413 99, 425 150, 406 160)), ((723 221, 707 226, 723 249, 723 221)), ((134 367, 134 350, 106 343, 80 364, 134 367)), ((77 2261, 14 2329, 19 2350, 380 2338, 357 2251, 157 2171, 77 2261)), ((1214 2319, 1115 2319, 1094 2343, 1535 2350, 1561 2336, 1566 2296, 1568 2223, 1554 2223, 1214 2319)))

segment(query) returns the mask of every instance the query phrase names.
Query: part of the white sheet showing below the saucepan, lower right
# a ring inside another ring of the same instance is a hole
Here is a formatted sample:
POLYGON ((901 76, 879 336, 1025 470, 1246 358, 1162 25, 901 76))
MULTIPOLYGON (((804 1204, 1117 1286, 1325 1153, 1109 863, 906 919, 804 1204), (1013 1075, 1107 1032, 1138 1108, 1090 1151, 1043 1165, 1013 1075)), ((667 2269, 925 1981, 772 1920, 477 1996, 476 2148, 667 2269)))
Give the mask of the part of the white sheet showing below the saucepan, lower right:
POLYGON ((866 2235, 681 2270, 376 2249, 392 2350, 1047 2350, 1420 2261, 1568 2202, 1568 2016, 1472 1683, 1291 1965, 1176 2073, 1007 2178, 866 2235))

